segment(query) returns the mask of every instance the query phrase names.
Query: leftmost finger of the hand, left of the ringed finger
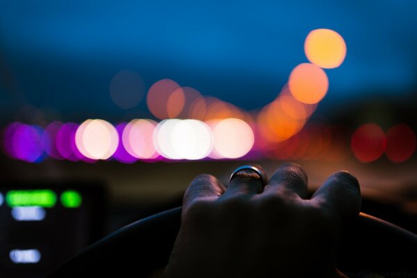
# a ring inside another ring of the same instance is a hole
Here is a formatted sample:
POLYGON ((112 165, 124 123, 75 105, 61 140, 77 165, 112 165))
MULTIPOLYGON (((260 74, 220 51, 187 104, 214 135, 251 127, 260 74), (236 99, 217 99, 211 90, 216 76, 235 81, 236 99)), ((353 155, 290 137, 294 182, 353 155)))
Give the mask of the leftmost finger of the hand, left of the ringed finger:
POLYGON ((224 193, 224 186, 211 174, 200 174, 191 181, 183 198, 183 211, 196 199, 215 199, 224 193))

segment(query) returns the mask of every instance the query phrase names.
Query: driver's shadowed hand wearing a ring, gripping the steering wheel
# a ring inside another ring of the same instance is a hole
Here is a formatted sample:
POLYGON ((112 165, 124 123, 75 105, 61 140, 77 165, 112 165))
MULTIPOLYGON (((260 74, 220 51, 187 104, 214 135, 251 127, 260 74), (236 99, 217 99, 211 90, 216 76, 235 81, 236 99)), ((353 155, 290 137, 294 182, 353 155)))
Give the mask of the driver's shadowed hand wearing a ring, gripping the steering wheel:
POLYGON ((307 197, 307 177, 282 165, 263 188, 243 170, 224 188, 202 174, 183 199, 167 277, 336 277, 343 224, 359 215, 359 183, 336 172, 307 197))

